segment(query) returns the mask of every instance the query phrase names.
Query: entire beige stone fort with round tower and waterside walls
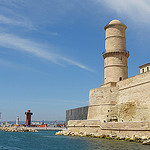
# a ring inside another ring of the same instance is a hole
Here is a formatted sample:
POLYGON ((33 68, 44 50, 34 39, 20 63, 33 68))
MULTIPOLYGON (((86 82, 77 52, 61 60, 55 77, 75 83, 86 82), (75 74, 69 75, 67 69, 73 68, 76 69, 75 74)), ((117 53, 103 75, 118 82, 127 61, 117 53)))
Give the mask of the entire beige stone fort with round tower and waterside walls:
POLYGON ((104 27, 104 84, 90 90, 88 108, 66 111, 69 132, 150 137, 150 63, 128 78, 126 28, 119 20, 104 27))

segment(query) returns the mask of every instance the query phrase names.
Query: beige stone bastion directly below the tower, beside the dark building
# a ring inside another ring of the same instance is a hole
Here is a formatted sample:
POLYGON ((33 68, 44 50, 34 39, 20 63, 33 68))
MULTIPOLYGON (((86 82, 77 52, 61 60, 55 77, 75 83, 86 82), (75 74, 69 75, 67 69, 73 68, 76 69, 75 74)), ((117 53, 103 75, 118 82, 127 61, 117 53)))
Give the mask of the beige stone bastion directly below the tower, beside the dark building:
POLYGON ((88 120, 106 120, 111 107, 117 104, 118 88, 101 87, 90 90, 88 120))

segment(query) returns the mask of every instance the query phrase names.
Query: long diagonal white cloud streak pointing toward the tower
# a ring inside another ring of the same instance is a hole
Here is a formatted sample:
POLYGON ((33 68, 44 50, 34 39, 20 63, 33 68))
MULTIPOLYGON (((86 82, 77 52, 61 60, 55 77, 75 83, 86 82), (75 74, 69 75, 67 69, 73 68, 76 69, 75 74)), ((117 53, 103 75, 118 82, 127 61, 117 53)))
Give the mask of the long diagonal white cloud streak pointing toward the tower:
POLYGON ((93 72, 92 69, 90 69, 89 67, 79 62, 73 61, 62 55, 52 52, 54 51, 53 47, 50 47, 50 46, 48 47, 48 46, 36 43, 34 41, 31 41, 29 39, 18 37, 13 34, 1 33, 0 34, 0 46, 14 49, 17 51, 23 51, 23 52, 32 54, 33 56, 51 61, 55 64, 61 65, 62 63, 67 63, 69 65, 74 65, 81 69, 93 72))

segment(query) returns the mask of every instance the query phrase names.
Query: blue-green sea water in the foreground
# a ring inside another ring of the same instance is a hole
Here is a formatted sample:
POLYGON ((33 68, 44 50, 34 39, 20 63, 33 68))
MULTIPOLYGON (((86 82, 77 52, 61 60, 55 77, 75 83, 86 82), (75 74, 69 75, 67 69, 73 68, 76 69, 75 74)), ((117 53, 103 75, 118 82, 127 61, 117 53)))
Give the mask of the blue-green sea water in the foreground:
POLYGON ((0 131, 0 150, 150 150, 150 145, 90 137, 55 135, 56 131, 0 131))

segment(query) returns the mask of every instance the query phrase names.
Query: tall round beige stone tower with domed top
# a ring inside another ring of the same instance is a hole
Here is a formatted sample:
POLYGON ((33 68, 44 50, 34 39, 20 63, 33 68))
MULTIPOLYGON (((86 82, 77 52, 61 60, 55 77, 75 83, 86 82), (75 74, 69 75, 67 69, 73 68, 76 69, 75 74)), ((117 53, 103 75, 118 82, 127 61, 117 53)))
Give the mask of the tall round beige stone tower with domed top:
POLYGON ((105 52, 103 52, 104 84, 128 78, 129 52, 126 51, 126 28, 127 26, 119 20, 112 20, 104 27, 106 31, 105 52))

